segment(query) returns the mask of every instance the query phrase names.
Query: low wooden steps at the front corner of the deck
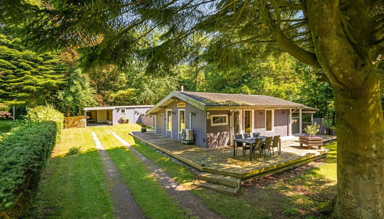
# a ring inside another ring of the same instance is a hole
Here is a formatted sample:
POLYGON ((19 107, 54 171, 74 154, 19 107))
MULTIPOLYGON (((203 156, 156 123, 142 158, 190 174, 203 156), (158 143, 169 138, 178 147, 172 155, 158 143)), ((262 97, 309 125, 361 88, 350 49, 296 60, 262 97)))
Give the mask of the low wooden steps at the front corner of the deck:
POLYGON ((240 188, 241 179, 233 176, 201 172, 198 175, 198 180, 196 180, 194 184, 222 193, 235 195, 240 188))

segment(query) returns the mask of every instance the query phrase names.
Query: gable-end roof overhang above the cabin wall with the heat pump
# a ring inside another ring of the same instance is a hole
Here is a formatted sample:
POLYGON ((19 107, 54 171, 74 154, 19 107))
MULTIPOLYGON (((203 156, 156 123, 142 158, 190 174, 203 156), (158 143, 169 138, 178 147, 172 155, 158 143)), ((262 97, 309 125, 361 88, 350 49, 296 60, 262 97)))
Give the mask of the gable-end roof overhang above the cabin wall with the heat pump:
POLYGON ((200 110, 205 110, 205 104, 202 102, 199 102, 195 99, 192 99, 188 96, 185 96, 179 92, 172 91, 168 96, 164 97, 162 100, 160 100, 158 103, 156 103, 154 106, 152 106, 147 112, 146 115, 154 115, 157 112, 159 112, 162 108, 169 105, 173 101, 179 101, 182 100, 184 102, 190 103, 200 110))

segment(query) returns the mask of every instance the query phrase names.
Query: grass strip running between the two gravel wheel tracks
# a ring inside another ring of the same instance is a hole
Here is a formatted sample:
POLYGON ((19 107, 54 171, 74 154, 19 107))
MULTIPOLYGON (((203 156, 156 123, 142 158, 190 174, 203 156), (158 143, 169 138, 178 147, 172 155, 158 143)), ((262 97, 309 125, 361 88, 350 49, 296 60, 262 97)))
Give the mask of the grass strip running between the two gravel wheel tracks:
MULTIPOLYGON (((140 130, 139 125, 118 125, 126 131, 140 130)), ((136 203, 149 218, 185 218, 190 214, 170 197, 147 167, 109 131, 113 127, 92 128, 111 156, 136 203)), ((121 136, 121 135, 120 135, 121 136)))

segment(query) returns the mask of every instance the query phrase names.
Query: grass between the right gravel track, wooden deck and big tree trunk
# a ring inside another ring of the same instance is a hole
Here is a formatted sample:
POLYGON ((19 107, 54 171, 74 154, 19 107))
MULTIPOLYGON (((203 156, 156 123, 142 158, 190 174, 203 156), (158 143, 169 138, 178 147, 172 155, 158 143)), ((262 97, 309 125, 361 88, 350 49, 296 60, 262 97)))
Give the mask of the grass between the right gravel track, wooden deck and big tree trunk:
MULTIPOLYGON (((128 135, 130 129, 123 126, 111 128, 179 183, 193 183, 193 173, 149 146, 134 141, 128 135)), ((337 144, 325 147, 331 151, 324 160, 304 166, 303 170, 299 168, 292 173, 273 175, 271 180, 263 179, 261 185, 257 180, 250 181, 241 187, 237 196, 202 188, 191 188, 191 192, 224 218, 323 218, 319 214, 320 206, 335 192, 337 144)))

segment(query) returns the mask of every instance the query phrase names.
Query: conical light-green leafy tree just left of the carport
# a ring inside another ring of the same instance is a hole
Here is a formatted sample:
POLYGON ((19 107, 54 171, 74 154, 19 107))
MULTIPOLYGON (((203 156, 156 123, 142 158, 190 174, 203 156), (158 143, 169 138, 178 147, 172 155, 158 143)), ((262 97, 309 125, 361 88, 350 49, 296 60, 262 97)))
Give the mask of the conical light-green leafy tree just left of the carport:
POLYGON ((94 93, 87 75, 79 69, 74 70, 67 86, 58 93, 61 112, 65 112, 65 116, 78 116, 81 108, 97 106, 94 93))

